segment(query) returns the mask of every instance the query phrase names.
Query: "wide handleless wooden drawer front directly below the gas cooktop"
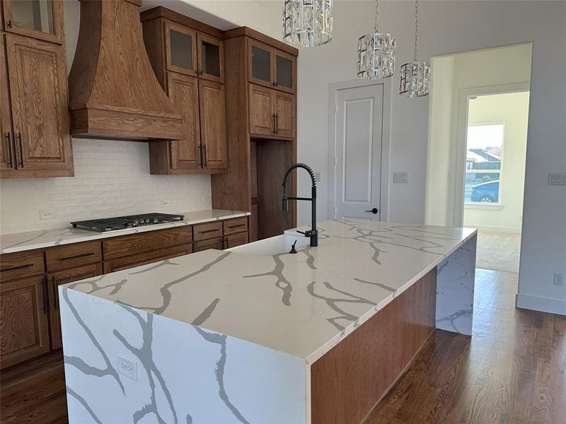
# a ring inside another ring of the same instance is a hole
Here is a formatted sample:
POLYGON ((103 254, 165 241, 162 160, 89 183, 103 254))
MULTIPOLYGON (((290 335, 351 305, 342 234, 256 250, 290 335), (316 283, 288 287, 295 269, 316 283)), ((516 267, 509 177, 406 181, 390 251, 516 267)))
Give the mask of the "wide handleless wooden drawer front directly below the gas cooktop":
POLYGON ((106 261, 131 254, 150 252, 155 249, 186 245, 191 241, 192 235, 189 226, 125 235, 104 241, 102 244, 103 257, 106 261))

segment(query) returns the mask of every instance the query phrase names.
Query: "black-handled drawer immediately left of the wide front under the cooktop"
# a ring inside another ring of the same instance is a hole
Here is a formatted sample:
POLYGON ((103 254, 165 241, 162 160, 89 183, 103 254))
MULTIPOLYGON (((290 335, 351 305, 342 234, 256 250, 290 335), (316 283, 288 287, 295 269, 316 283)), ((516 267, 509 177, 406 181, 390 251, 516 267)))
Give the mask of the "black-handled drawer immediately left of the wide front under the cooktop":
POLYGON ((47 272, 60 271, 102 261, 100 242, 74 243, 45 250, 47 272))

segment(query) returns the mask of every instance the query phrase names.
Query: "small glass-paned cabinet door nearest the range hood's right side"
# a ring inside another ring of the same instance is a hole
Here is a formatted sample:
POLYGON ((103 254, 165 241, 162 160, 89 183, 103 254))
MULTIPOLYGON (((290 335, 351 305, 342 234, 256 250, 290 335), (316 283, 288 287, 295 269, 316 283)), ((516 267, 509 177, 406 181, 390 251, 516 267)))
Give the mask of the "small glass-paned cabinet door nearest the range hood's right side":
POLYGON ((197 33, 165 20, 165 56, 168 71, 197 75, 197 33))

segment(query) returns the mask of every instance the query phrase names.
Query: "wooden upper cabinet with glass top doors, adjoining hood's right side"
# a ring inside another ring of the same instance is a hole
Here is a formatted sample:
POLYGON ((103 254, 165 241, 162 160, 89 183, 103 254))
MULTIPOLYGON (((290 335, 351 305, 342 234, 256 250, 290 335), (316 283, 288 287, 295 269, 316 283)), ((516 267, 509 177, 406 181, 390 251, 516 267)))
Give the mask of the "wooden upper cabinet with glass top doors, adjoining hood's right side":
POLYGON ((183 114, 186 138, 149 143, 151 174, 219 174, 228 166, 220 30, 156 7, 141 13, 151 66, 183 114))

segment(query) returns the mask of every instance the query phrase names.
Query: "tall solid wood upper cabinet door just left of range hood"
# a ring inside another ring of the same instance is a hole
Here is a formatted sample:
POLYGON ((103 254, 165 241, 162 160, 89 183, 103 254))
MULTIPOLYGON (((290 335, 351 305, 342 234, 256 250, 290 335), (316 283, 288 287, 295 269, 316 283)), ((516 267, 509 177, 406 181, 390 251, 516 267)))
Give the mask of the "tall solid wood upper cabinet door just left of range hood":
POLYGON ((33 177, 72 175, 64 47, 6 35, 16 167, 33 177))

